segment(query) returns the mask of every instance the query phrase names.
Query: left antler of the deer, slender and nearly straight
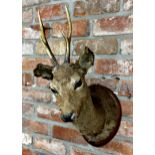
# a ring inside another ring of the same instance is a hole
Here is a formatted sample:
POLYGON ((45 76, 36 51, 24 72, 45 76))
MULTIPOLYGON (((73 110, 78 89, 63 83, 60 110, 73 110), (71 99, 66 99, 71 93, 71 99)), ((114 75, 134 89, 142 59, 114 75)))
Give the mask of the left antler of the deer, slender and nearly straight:
POLYGON ((42 41, 44 47, 46 48, 46 52, 47 52, 47 54, 49 55, 49 57, 50 57, 52 63, 53 63, 54 65, 58 65, 58 62, 57 62, 57 60, 56 60, 54 54, 52 53, 51 48, 50 48, 50 46, 49 46, 49 44, 48 44, 48 42, 47 42, 47 39, 46 39, 46 37, 45 37, 45 29, 44 29, 44 26, 43 26, 43 22, 42 22, 42 20, 41 20, 41 18, 40 18, 40 13, 39 13, 39 11, 38 11, 38 18, 39 18, 39 25, 40 25, 40 39, 41 39, 41 41, 42 41))

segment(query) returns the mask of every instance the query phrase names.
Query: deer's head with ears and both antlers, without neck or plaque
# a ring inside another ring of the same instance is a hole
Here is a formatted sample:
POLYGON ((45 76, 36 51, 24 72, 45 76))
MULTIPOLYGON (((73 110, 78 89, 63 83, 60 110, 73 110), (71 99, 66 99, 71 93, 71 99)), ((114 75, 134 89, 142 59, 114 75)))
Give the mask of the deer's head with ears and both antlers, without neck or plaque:
POLYGON ((78 116, 82 100, 88 96, 88 87, 84 76, 89 67, 94 63, 94 54, 88 47, 85 47, 85 50, 80 55, 77 62, 70 62, 72 24, 67 6, 65 6, 65 9, 69 31, 67 36, 62 32, 66 44, 66 53, 64 63, 61 65, 58 64, 49 47, 45 37, 45 29, 38 12, 41 30, 40 39, 46 48, 53 66, 38 64, 34 70, 34 75, 51 81, 50 88, 59 103, 59 107, 62 111, 62 119, 64 121, 73 121, 75 117, 78 116))

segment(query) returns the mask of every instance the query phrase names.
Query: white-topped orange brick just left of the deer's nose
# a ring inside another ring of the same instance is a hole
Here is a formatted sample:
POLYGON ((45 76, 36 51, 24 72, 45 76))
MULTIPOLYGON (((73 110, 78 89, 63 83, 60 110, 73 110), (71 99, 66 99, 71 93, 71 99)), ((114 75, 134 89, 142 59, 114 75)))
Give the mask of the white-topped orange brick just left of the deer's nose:
POLYGON ((63 122, 60 118, 60 110, 56 108, 48 108, 43 106, 37 107, 37 116, 40 118, 57 121, 57 122, 63 122))

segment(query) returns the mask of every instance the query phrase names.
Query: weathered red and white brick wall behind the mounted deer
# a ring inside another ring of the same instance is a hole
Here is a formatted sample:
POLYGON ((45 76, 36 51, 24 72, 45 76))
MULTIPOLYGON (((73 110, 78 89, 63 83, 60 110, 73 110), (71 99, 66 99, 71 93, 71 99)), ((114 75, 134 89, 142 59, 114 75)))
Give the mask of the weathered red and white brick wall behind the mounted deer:
POLYGON ((132 0, 23 0, 23 155, 132 154, 132 0), (123 117, 114 139, 103 147, 87 144, 71 123, 63 123, 49 82, 33 76, 39 62, 50 64, 39 40, 37 10, 46 26, 51 48, 61 61, 66 28, 64 5, 73 21, 71 58, 87 45, 95 64, 86 76, 119 97, 123 117), (76 52, 75 52, 76 51, 76 52))

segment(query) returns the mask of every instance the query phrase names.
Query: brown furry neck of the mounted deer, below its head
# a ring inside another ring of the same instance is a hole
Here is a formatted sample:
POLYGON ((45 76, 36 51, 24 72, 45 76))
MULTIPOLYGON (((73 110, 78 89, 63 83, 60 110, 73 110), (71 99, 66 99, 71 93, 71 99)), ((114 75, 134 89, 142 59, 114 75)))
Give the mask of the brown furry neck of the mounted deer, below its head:
POLYGON ((101 104, 95 101, 97 100, 93 99, 89 91, 87 99, 82 103, 79 116, 74 122, 83 135, 99 134, 104 127, 104 110, 101 104))

